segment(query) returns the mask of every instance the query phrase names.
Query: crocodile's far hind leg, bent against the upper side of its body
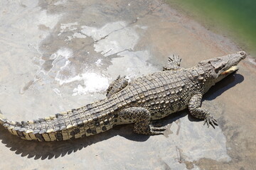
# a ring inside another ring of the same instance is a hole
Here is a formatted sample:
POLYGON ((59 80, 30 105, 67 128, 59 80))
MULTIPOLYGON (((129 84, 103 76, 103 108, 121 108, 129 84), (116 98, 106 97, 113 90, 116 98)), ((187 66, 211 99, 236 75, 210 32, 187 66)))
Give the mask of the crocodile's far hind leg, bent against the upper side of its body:
POLYGON ((107 97, 111 96, 112 94, 116 94, 117 92, 121 91, 128 85, 128 79, 124 77, 120 77, 120 75, 115 79, 110 86, 107 88, 107 97))

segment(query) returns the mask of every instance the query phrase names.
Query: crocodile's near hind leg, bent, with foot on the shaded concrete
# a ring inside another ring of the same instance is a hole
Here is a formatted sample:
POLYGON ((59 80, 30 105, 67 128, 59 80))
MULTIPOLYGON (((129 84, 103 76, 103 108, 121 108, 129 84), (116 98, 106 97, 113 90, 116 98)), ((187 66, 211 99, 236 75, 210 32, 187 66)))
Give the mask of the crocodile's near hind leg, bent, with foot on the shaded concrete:
POLYGON ((132 107, 124 108, 119 113, 119 120, 124 123, 134 123, 134 132, 143 135, 162 135, 161 131, 166 128, 154 127, 150 125, 151 115, 146 108, 132 107))

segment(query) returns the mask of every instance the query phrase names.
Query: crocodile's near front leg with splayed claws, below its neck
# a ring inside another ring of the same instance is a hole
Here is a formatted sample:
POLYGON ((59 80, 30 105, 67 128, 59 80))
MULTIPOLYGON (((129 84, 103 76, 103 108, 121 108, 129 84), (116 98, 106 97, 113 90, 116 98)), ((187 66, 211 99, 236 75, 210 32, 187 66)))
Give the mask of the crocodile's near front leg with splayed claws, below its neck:
POLYGON ((209 128, 210 124, 215 128, 215 125, 218 125, 217 121, 205 108, 201 108, 202 97, 202 94, 195 94, 188 103, 188 110, 195 118, 204 119, 205 123, 203 125, 207 124, 209 128))

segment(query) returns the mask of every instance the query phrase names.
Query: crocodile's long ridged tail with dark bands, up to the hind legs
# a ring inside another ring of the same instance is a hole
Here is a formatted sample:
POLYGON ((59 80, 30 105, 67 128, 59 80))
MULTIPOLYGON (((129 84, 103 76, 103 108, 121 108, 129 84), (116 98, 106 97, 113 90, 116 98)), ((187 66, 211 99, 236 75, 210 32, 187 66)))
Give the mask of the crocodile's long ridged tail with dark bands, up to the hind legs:
MULTIPOLYGON (((92 106, 92 108, 97 106, 92 106)), ((39 142, 70 140, 95 135, 112 128, 112 118, 106 119, 102 115, 96 116, 90 107, 85 106, 27 122, 9 121, 0 113, 0 123, 13 135, 23 140, 37 140, 39 142)), ((106 110, 105 112, 107 114, 110 111, 106 110)))

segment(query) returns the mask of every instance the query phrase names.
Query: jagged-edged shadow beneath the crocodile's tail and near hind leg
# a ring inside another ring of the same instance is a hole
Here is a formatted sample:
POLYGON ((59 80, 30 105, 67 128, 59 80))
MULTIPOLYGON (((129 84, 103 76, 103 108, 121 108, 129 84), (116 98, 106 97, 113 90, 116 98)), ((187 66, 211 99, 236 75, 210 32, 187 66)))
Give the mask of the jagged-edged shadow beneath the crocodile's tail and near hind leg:
POLYGON ((8 130, 1 126, 0 140, 6 147, 16 154, 21 154, 21 157, 33 159, 53 159, 64 157, 66 154, 78 152, 84 147, 88 147, 97 142, 101 142, 121 135, 137 142, 143 142, 149 138, 146 135, 134 135, 132 125, 119 125, 117 127, 97 135, 82 137, 75 140, 66 140, 59 142, 37 142, 21 140, 20 138, 11 135, 8 130), (133 137, 132 137, 133 136, 133 137))

